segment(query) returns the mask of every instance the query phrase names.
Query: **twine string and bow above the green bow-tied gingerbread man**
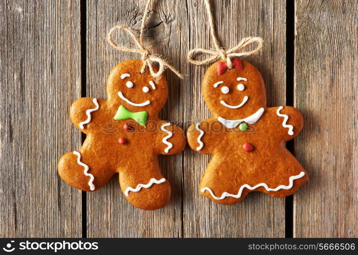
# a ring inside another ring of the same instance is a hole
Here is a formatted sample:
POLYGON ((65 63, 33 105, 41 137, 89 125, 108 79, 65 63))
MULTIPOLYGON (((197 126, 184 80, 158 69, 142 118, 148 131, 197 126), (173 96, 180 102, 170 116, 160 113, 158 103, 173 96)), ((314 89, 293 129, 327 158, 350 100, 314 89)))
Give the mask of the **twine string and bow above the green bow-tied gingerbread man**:
POLYGON ((146 24, 146 19, 147 19, 147 14, 148 14, 150 1, 151 0, 147 1, 147 4, 146 4, 145 9, 144 9, 139 39, 133 33, 133 31, 130 28, 126 27, 125 25, 116 25, 115 27, 113 27, 108 32, 107 40, 108 40, 109 44, 112 45, 113 47, 115 47, 116 49, 123 50, 124 52, 132 52, 132 53, 140 54, 141 59, 143 61, 143 66, 142 66, 141 71, 140 71, 141 74, 143 74, 146 71, 146 68, 148 67, 149 72, 152 75, 152 77, 154 77, 157 80, 159 80, 161 78, 162 73, 164 72, 164 70, 166 68, 169 68, 179 78, 183 79, 183 75, 180 72, 178 72, 172 65, 167 63, 160 56, 150 54, 149 50, 144 46, 144 43, 143 43, 144 27, 145 27, 145 24, 146 24), (115 40, 113 39, 113 36, 119 30, 126 31, 131 36, 133 41, 136 42, 138 48, 129 48, 129 47, 121 46, 117 42, 115 42, 115 40), (159 70, 157 72, 155 72, 155 70, 154 70, 154 63, 157 63, 159 65, 159 70))

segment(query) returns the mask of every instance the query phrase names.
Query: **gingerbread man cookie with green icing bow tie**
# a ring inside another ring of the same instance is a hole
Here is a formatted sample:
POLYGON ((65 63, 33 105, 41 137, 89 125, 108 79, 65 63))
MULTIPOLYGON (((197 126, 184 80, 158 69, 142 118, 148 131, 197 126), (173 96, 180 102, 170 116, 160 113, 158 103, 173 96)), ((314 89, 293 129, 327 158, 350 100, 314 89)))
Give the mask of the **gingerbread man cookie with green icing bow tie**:
POLYGON ((119 173, 125 198, 132 205, 154 210, 169 201, 169 182, 158 155, 177 154, 186 144, 184 131, 158 117, 167 96, 164 76, 155 81, 140 74, 141 60, 128 60, 111 70, 107 100, 84 97, 70 109, 72 122, 87 135, 78 151, 62 156, 62 179, 83 191, 101 188, 119 173))

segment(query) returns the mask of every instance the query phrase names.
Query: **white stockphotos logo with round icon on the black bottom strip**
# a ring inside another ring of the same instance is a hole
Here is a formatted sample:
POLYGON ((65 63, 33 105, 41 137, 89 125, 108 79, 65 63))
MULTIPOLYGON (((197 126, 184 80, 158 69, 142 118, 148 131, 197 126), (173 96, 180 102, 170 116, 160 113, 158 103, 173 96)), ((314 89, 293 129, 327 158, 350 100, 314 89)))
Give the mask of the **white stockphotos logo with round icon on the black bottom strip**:
MULTIPOLYGON (((6 252, 12 252, 15 250, 14 246, 15 241, 11 241, 6 244, 6 247, 3 248, 6 252)), ((18 246, 19 250, 48 250, 57 252, 59 250, 97 250, 97 242, 20 242, 18 246)))

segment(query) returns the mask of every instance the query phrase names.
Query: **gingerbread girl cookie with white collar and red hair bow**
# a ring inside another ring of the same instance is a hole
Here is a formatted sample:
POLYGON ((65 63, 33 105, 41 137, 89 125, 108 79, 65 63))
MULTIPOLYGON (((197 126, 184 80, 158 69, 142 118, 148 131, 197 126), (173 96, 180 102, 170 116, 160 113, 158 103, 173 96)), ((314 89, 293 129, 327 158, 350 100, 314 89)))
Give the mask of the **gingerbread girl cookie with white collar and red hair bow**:
POLYGON ((212 118, 191 125, 190 147, 213 155, 200 182, 200 193, 230 205, 251 191, 284 197, 308 180, 306 171, 285 142, 303 126, 293 107, 266 107, 260 72, 249 62, 233 59, 211 65, 202 92, 212 118))

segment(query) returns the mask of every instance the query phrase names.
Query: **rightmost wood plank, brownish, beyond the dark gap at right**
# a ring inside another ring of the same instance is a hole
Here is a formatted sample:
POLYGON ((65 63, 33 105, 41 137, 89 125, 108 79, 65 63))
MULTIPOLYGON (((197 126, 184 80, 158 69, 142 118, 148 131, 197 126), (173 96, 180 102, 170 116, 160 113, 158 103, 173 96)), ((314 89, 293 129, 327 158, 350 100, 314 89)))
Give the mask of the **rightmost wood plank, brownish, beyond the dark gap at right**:
POLYGON ((296 237, 358 237, 357 1, 298 1, 296 154, 309 174, 295 195, 296 237))

